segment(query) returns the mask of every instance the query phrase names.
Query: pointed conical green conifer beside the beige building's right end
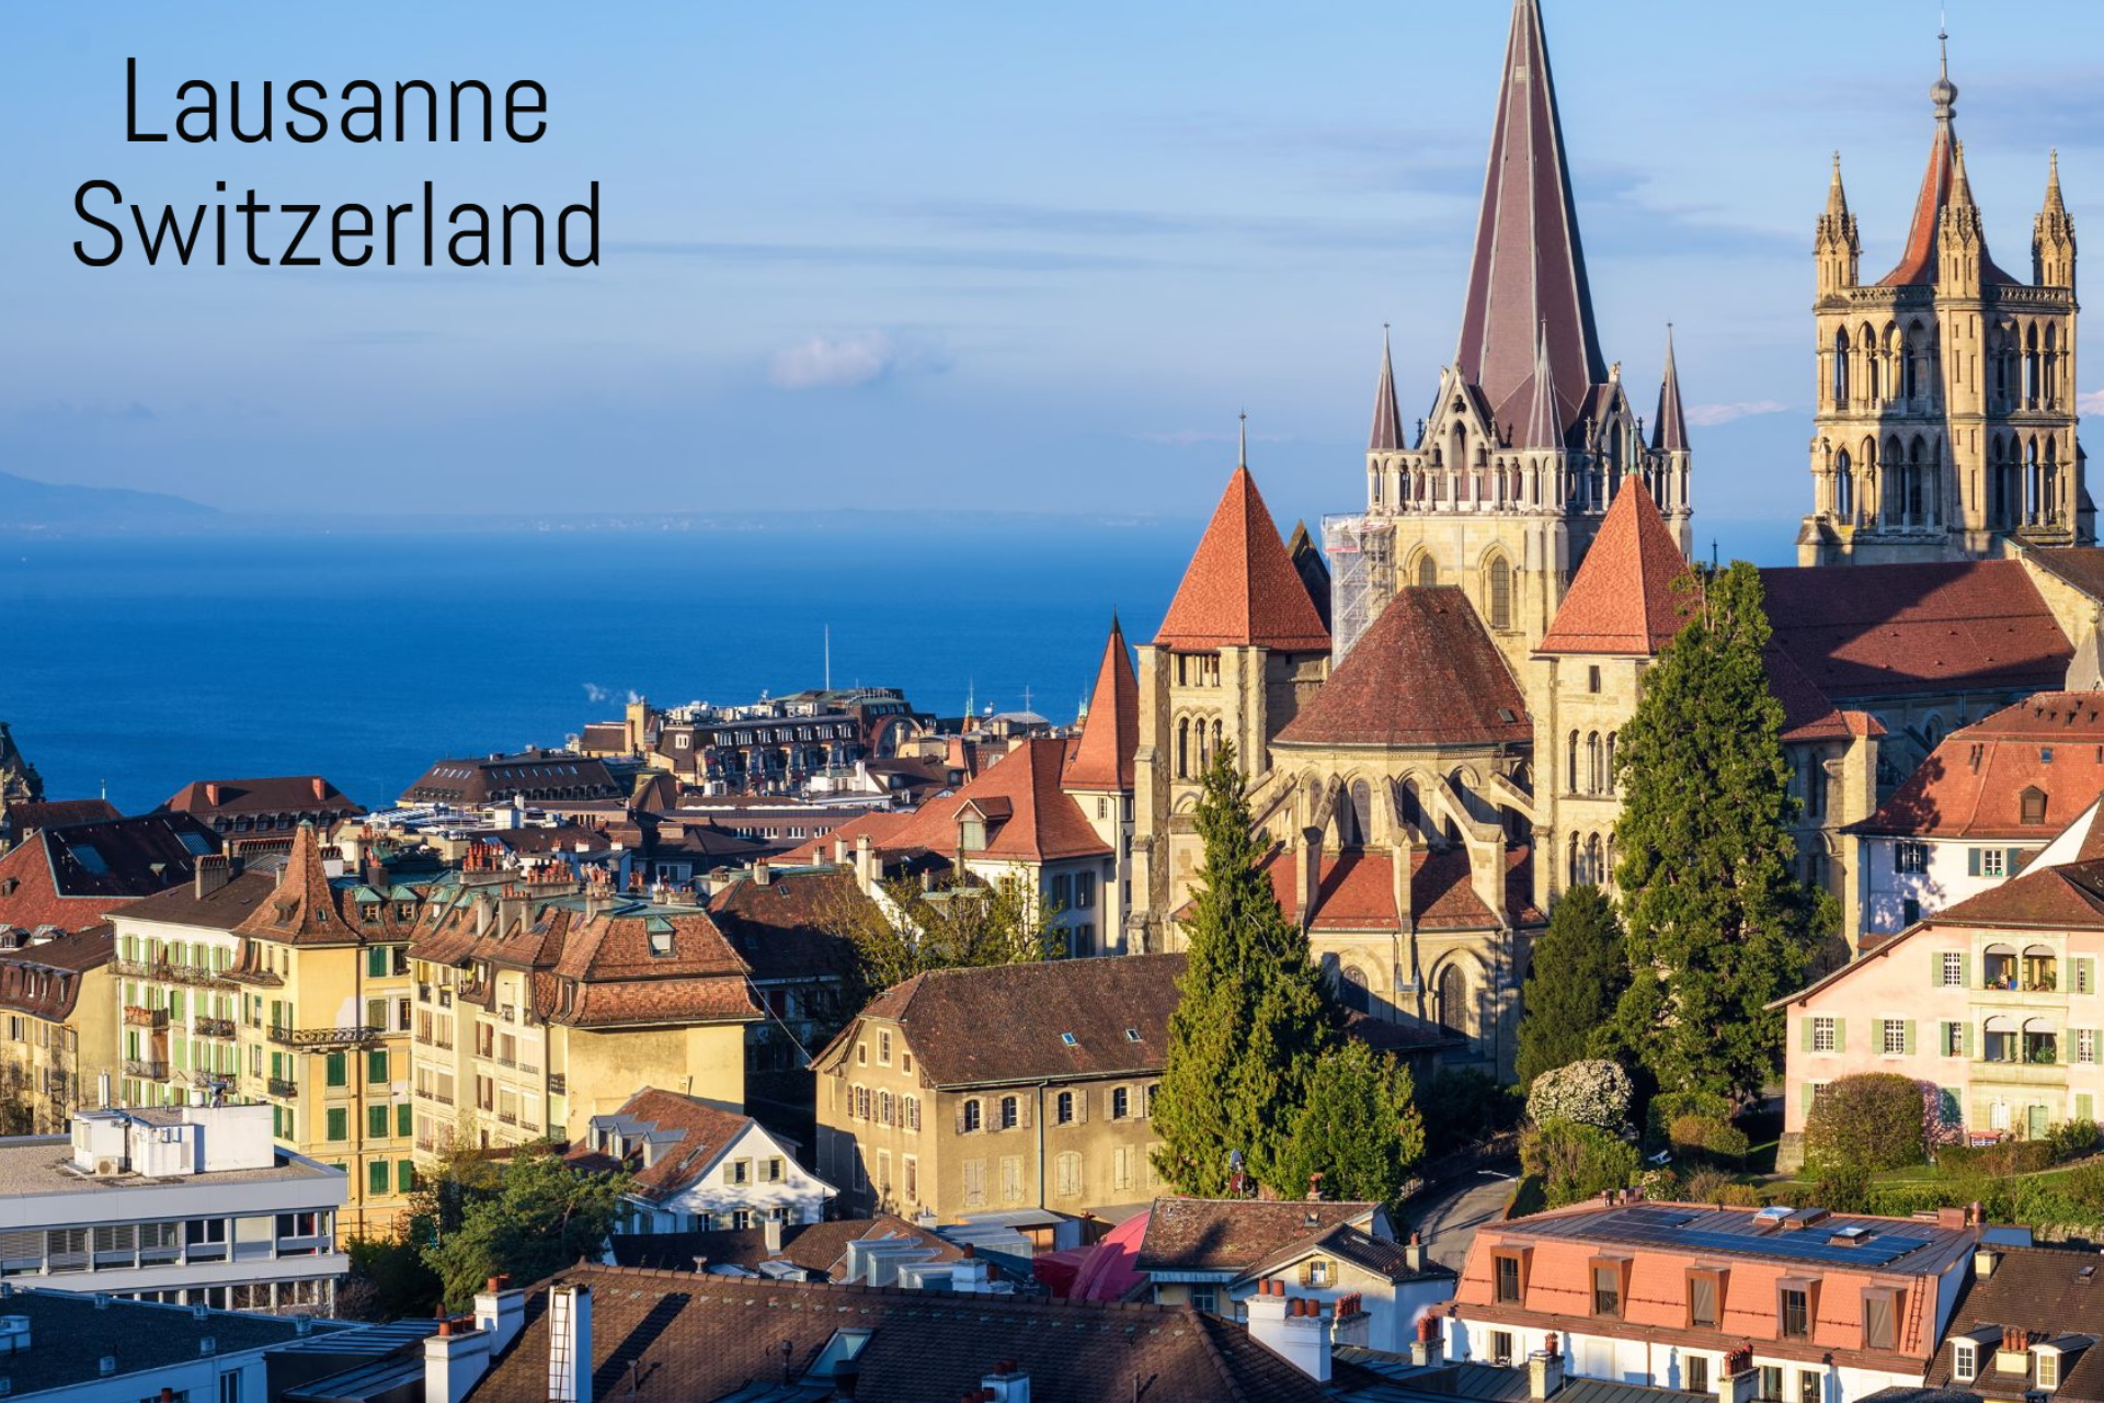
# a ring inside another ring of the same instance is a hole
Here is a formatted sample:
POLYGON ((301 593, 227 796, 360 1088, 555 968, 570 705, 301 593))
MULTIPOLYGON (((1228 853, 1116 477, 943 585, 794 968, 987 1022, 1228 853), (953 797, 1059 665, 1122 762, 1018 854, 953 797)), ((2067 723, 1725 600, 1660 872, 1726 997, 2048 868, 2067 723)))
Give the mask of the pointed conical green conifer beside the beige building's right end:
POLYGON ((1309 963, 1307 932, 1256 871, 1262 850, 1233 745, 1206 770, 1197 831, 1206 862, 1185 921, 1189 968, 1170 1016, 1155 1167, 1178 1193, 1216 1197, 1239 1151, 1250 1176, 1298 1195, 1288 1151, 1338 1014, 1309 963))

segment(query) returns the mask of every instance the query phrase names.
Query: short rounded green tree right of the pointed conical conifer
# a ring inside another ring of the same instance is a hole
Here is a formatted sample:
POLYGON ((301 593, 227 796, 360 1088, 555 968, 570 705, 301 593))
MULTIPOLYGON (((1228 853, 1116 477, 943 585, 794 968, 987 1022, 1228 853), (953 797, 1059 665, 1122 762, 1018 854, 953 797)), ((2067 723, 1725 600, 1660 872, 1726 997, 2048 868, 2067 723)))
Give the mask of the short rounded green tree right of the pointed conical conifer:
POLYGON ((1344 1039, 1315 1062, 1309 1098, 1294 1117, 1279 1184, 1319 1184, 1326 1199, 1393 1203, 1424 1157, 1416 1087, 1395 1058, 1344 1039), (1319 1180, 1315 1176, 1321 1176, 1319 1180))

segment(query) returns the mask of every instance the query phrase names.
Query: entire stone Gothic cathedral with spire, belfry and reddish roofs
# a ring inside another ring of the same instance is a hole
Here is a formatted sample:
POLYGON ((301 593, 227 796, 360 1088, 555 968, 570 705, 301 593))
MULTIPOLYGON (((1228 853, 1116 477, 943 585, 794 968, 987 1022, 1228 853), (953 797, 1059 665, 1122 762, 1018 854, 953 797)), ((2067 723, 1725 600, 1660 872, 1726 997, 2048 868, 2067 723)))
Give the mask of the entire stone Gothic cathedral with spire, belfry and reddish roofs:
MULTIPOLYGON (((1456 353, 1405 419, 1382 349, 1363 509, 1281 538, 1243 454, 1138 675, 1121 646, 1107 675, 1138 692, 1126 951, 1178 947, 1199 778, 1231 743, 1344 1001, 1509 1069, 1546 911, 1612 881, 1616 732, 1683 616, 1698 477, 1671 337, 1647 421, 1599 345, 1538 0, 1515 0, 1496 93, 1456 353)), ((1801 875, 1837 894, 1841 829, 1944 734, 2098 682, 2058 168, 2024 284, 1988 255, 1948 74, 1931 101, 1904 252, 1868 286, 1835 168, 1814 509, 1801 568, 1763 572, 1801 875)))

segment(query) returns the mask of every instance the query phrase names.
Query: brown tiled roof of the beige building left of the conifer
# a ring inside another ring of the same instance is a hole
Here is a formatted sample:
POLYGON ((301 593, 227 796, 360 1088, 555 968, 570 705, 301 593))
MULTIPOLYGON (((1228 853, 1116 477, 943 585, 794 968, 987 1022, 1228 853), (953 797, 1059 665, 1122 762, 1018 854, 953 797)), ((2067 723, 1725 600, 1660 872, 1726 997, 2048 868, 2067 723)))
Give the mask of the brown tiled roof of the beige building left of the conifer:
POLYGON ((1117 955, 915 974, 871 999, 816 1064, 886 1018, 928 1085, 1159 1073, 1182 972, 1182 955, 1117 955))

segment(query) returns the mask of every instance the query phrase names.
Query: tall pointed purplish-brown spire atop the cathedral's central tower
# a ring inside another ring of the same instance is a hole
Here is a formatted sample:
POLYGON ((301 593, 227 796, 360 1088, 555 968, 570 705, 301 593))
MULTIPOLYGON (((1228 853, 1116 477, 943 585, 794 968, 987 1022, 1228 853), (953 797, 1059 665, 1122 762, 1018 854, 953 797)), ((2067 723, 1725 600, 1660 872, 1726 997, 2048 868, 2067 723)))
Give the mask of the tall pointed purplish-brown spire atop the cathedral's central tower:
POLYGON ((1456 353, 1490 402, 1492 423, 1513 423, 1532 408, 1544 326, 1561 440, 1591 387, 1607 381, 1607 362, 1593 324, 1542 13, 1538 0, 1515 0, 1456 353))

